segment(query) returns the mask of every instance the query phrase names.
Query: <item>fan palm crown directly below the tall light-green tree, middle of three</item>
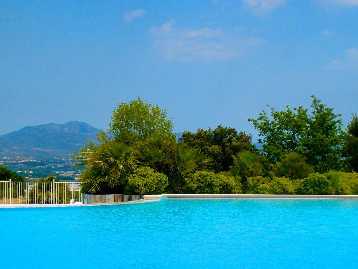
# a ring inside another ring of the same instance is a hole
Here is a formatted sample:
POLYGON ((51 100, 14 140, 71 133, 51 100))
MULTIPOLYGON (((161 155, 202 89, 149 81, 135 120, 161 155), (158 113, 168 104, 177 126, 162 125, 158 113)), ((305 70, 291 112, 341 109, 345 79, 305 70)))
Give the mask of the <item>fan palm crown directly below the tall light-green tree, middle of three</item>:
MULTIPOLYGON (((134 145, 135 153, 141 165, 152 168, 155 172, 169 164, 175 152, 175 142, 163 137, 148 137, 134 145)), ((163 170, 163 169, 161 169, 163 170)))

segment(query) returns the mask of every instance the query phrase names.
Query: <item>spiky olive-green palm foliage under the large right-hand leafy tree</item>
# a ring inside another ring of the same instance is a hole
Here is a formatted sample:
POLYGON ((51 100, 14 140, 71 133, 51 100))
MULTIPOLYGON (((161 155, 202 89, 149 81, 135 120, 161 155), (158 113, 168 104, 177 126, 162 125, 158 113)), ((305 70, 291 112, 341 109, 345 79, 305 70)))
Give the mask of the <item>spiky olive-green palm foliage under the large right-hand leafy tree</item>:
POLYGON ((313 166, 306 164, 306 158, 296 152, 285 154, 282 161, 271 164, 271 176, 287 177, 290 179, 306 178, 314 172, 313 166))

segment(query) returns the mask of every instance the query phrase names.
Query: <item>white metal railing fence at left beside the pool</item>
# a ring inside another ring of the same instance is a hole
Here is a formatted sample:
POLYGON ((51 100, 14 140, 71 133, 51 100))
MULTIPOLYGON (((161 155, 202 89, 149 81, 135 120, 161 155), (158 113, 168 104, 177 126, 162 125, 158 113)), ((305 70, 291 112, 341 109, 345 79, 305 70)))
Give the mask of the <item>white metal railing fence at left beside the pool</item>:
POLYGON ((0 181, 0 204, 71 204, 82 202, 79 182, 0 181))

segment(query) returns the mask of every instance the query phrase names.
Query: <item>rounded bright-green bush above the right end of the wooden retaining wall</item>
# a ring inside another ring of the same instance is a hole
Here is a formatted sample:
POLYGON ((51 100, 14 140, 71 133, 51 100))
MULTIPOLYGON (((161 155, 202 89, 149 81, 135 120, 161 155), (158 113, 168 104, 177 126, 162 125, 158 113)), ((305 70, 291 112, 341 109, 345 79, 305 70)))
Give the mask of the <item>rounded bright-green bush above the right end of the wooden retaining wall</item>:
POLYGON ((134 170, 134 173, 127 177, 127 181, 124 189, 127 194, 161 194, 168 186, 166 175, 156 173, 146 166, 134 170))

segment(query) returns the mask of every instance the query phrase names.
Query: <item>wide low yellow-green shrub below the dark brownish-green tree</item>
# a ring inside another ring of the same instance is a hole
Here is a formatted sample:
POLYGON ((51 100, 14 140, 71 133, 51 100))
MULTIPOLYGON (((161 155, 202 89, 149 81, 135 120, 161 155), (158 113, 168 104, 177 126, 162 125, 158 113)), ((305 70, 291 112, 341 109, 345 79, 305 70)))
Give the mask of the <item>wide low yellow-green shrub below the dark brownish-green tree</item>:
POLYGON ((233 176, 224 176, 207 171, 196 171, 185 179, 189 192, 196 194, 237 194, 241 184, 233 176))

